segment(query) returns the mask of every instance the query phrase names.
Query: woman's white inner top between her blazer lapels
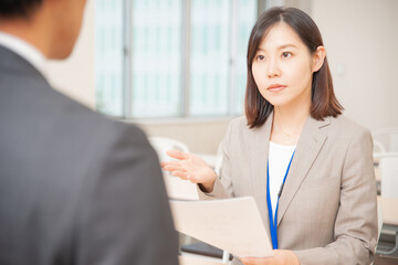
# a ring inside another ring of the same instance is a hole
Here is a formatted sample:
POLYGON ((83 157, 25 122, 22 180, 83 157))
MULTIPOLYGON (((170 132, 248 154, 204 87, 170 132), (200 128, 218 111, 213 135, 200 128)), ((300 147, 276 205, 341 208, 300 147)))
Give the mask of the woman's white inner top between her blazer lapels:
POLYGON ((283 183, 283 178, 286 173, 287 166, 295 150, 295 147, 296 146, 282 146, 270 141, 269 178, 270 178, 270 197, 271 197, 273 218, 275 218, 277 193, 283 183))

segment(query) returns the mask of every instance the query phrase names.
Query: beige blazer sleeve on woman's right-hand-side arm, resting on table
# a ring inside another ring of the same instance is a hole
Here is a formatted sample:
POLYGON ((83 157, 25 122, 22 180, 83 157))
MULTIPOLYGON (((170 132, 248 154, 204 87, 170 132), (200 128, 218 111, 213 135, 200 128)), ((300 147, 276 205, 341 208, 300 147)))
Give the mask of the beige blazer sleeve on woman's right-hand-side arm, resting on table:
MULTIPOLYGON (((301 265, 370 264, 377 243, 377 199, 373 140, 367 130, 352 137, 342 172, 335 241, 295 251, 301 265)), ((327 206, 327 205, 326 205, 327 206)))

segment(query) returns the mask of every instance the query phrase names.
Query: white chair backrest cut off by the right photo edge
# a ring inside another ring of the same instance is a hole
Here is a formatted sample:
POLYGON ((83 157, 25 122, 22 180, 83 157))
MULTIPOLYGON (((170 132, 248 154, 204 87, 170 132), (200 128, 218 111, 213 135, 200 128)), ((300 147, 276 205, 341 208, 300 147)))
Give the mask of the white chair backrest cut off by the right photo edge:
POLYGON ((398 198, 398 152, 378 153, 375 158, 379 160, 381 197, 398 198))

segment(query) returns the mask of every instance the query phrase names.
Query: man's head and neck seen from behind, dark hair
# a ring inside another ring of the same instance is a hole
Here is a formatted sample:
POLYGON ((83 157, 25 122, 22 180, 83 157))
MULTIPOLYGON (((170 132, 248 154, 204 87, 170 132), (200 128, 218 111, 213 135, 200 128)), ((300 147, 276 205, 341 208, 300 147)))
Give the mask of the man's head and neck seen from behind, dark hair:
POLYGON ((15 35, 48 59, 65 59, 78 36, 86 0, 0 0, 0 31, 15 35))

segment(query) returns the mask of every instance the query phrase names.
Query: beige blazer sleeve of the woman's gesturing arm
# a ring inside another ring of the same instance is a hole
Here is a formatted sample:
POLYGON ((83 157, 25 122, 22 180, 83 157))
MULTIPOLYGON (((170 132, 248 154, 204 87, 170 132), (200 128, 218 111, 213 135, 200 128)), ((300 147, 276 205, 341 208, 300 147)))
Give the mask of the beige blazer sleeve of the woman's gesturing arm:
POLYGON ((212 192, 203 192, 200 186, 197 186, 198 195, 200 200, 228 199, 233 197, 233 187, 231 180, 231 149, 232 123, 229 124, 227 134, 222 140, 222 166, 218 173, 212 192))

